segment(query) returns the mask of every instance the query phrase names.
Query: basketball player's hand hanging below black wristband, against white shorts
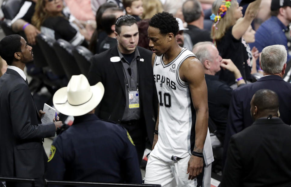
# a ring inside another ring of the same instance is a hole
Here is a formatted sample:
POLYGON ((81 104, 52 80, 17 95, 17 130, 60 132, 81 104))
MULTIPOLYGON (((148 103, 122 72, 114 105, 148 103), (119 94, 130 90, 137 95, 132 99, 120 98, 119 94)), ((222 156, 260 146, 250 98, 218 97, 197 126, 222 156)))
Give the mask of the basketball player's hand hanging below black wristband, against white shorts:
POLYGON ((189 173, 188 180, 193 180, 203 169, 203 159, 201 157, 196 157, 192 155, 188 161, 187 174, 189 173))

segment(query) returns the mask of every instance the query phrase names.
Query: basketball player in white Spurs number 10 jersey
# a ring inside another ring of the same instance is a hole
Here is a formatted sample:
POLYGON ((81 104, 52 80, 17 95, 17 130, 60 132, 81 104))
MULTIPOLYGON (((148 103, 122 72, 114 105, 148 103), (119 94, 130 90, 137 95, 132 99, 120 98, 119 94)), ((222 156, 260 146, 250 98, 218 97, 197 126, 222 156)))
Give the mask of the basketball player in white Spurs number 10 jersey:
POLYGON ((158 13, 149 25, 159 118, 144 183, 210 187, 214 158, 203 66, 191 51, 178 45, 179 26, 172 14, 158 13))

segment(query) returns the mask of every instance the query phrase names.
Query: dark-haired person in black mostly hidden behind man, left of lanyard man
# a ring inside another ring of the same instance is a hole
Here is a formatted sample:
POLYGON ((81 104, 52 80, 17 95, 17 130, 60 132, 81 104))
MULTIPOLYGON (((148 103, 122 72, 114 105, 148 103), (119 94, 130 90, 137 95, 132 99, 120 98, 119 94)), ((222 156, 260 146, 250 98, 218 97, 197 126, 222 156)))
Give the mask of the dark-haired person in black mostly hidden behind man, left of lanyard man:
POLYGON ((106 38, 107 34, 102 28, 101 24, 101 18, 104 13, 104 11, 110 7, 117 7, 116 4, 114 3, 104 3, 99 7, 99 9, 96 12, 96 30, 94 31, 91 39, 90 39, 90 44, 88 49, 93 53, 93 54, 98 54, 99 52, 99 46, 100 43, 106 38))

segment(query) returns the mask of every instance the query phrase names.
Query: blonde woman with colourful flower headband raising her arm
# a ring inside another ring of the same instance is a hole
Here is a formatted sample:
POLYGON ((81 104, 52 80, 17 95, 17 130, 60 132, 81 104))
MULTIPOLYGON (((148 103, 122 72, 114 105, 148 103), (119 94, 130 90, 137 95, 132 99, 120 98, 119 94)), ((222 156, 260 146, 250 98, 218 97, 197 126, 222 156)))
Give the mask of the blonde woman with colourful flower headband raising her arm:
MULTIPOLYGON (((216 0, 212 5, 211 19, 214 21, 211 37, 222 58, 231 59, 242 74, 242 78, 251 81, 251 59, 242 43, 242 35, 255 18, 261 0, 249 4, 242 17, 242 7, 236 0, 216 0)), ((251 54, 250 54, 251 55, 251 54)), ((235 84, 234 75, 228 70, 221 70, 219 78, 228 85, 235 84)))

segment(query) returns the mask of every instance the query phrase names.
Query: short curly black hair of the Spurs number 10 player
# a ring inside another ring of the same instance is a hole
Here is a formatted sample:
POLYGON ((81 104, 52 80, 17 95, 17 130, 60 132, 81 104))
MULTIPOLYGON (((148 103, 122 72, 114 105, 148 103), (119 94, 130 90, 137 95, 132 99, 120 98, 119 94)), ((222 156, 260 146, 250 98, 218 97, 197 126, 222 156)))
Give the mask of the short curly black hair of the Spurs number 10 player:
POLYGON ((173 14, 168 12, 161 12, 154 15, 149 25, 151 27, 157 28, 160 30, 160 33, 166 35, 167 33, 173 33, 174 36, 179 32, 179 24, 173 14))

